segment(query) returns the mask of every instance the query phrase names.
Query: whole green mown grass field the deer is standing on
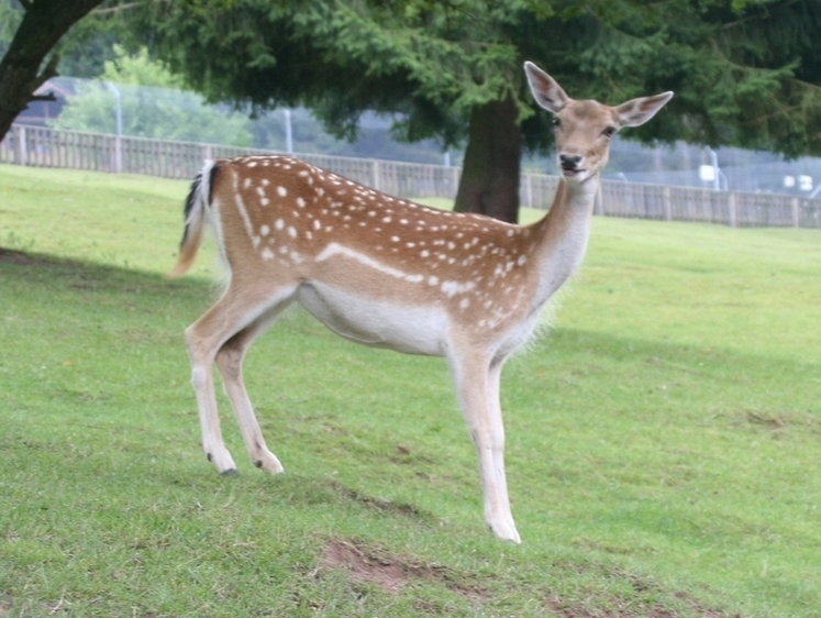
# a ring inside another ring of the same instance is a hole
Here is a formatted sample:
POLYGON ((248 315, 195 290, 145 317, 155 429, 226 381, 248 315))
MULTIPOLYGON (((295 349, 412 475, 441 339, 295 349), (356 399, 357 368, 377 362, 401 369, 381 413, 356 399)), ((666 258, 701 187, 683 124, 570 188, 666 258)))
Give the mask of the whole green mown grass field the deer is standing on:
POLYGON ((0 616, 821 614, 818 231, 596 219, 503 375, 512 545, 444 362, 300 312, 246 362, 286 474, 224 398, 215 474, 181 339, 213 252, 162 276, 186 190, 0 166, 0 616))

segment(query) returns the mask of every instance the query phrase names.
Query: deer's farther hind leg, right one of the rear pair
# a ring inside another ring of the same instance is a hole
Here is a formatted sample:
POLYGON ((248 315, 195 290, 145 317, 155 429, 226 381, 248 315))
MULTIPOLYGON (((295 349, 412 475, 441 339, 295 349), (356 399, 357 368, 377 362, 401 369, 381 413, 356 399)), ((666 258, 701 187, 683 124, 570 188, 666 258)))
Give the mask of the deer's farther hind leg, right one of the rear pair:
POLYGON ((242 377, 242 362, 254 340, 265 332, 288 304, 286 300, 271 308, 263 317, 223 343, 217 353, 217 366, 222 374, 225 395, 228 395, 234 408, 234 415, 236 416, 236 421, 240 423, 240 431, 251 461, 254 462, 256 467, 271 474, 285 472, 285 468, 279 463, 277 456, 265 444, 265 438, 263 438, 263 432, 256 420, 254 407, 245 389, 245 383, 242 377))

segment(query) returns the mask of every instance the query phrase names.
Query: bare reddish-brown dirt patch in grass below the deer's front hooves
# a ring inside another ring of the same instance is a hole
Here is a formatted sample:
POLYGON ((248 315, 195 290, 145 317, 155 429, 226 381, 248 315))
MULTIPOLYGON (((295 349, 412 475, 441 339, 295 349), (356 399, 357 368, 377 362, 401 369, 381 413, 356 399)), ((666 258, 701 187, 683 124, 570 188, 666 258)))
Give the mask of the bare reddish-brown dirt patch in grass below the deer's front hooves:
POLYGON ((315 573, 336 570, 345 571, 353 584, 375 585, 391 594, 401 592, 414 580, 423 580, 440 582, 471 600, 488 596, 478 586, 458 582, 455 574, 444 566, 392 555, 352 541, 331 541, 320 556, 315 573))

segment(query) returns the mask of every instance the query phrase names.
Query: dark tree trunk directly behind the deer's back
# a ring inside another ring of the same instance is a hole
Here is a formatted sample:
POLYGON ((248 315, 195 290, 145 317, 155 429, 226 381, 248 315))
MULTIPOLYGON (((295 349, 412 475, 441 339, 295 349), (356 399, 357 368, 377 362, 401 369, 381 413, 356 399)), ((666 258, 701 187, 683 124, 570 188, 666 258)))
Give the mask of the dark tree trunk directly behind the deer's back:
POLYGON ((519 220, 521 129, 513 97, 474 108, 455 210, 519 220))

